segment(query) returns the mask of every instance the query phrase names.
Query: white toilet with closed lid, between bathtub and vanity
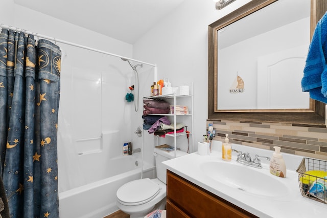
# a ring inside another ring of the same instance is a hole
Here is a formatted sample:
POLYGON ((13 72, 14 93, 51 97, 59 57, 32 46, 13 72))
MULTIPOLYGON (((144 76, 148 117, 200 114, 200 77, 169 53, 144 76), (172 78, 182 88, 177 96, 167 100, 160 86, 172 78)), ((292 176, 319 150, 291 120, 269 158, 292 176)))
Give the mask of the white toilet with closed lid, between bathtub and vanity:
MULTIPOLYGON (((174 158, 174 151, 167 152, 154 148, 156 163, 156 179, 139 179, 122 185, 116 192, 116 205, 123 212, 130 214, 130 218, 144 217, 155 209, 166 209, 167 168, 163 161, 174 158)), ((176 156, 186 155, 177 150, 176 156)))

